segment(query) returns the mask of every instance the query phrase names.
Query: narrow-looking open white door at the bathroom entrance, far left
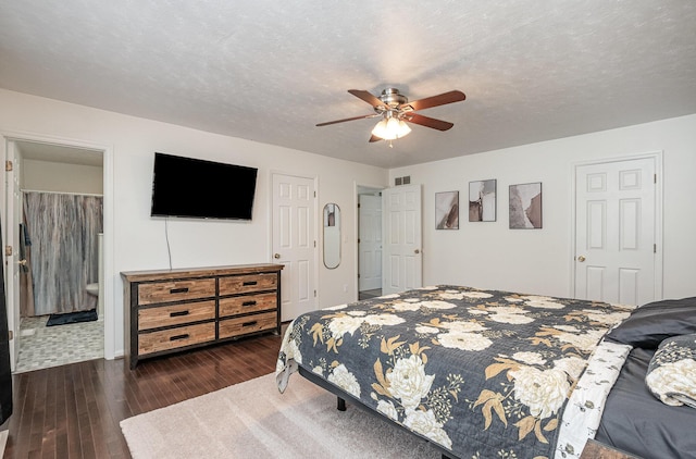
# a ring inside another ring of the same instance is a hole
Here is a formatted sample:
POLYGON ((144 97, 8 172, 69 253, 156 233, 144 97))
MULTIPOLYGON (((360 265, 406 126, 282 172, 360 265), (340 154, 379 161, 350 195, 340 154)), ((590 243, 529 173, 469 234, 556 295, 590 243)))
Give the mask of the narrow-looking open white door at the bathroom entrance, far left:
POLYGON ((5 168, 5 218, 2 222, 4 240, 12 253, 5 251, 5 300, 10 339, 10 368, 14 371, 20 353, 20 222, 22 222, 22 193, 20 189, 20 162, 14 141, 8 142, 7 160, 12 168, 5 168))

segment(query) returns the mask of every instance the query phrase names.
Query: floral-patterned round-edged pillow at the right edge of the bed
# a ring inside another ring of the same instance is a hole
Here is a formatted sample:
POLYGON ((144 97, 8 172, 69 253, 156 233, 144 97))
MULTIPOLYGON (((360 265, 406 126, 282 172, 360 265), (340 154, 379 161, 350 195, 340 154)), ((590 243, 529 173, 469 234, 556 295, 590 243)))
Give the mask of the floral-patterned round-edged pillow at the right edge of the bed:
POLYGON ((664 339, 650 359, 645 383, 666 405, 696 408, 696 334, 664 339))

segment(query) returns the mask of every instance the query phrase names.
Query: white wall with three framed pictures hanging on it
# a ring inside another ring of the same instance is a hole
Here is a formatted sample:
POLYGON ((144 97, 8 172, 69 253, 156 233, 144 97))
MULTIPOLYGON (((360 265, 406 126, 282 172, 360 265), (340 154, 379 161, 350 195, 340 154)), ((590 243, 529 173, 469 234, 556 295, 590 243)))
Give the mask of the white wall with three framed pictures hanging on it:
POLYGON ((696 115, 389 171, 423 185, 424 284, 572 296, 577 162, 663 152, 663 296, 696 296, 696 115), (497 221, 470 223, 469 182, 497 179, 497 221), (542 230, 508 228, 508 186, 543 183, 542 230), (459 190, 458 231, 435 230, 434 196, 459 190))

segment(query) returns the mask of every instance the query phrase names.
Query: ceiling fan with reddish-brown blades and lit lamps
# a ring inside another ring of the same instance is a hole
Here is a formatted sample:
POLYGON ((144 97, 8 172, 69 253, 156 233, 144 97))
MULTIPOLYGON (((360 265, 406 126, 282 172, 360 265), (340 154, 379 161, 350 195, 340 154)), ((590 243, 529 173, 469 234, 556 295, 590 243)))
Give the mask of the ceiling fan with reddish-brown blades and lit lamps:
POLYGON ((452 90, 411 102, 409 102, 409 99, 396 88, 384 89, 380 97, 375 97, 371 92, 361 89, 348 89, 348 92, 370 103, 375 113, 347 117, 344 120, 328 121, 326 123, 319 123, 316 126, 327 126, 330 124, 344 123, 346 121, 381 116, 382 120, 372 129, 372 137, 370 137, 370 141, 394 140, 401 138, 411 132, 411 128, 407 123, 420 124, 421 126, 438 131, 447 131, 453 126, 452 123, 423 116, 415 112, 419 110, 431 109, 433 107, 445 106, 447 103, 460 102, 467 99, 467 96, 459 90, 452 90))

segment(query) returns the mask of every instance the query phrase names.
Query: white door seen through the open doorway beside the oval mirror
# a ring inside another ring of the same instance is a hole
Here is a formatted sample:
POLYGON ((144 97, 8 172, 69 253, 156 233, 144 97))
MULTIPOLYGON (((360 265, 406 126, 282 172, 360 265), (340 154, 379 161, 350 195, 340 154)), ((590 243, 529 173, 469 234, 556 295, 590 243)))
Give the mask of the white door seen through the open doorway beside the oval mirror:
POLYGON ((360 195, 358 220, 359 291, 382 288, 382 198, 360 195))

